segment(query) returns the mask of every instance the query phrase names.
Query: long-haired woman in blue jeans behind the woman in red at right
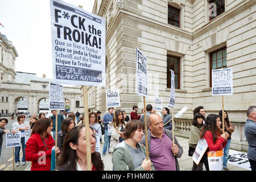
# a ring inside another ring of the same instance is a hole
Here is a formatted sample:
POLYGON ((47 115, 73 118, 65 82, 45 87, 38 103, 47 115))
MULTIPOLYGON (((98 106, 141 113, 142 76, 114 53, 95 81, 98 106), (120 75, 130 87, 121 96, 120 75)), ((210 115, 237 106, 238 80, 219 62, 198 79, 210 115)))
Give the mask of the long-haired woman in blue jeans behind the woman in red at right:
MULTIPOLYGON (((218 112, 218 116, 220 117, 220 120, 222 122, 222 110, 220 110, 218 112)), ((222 129, 222 124, 223 122, 221 123, 221 129, 222 129)), ((229 137, 228 137, 228 142, 226 142, 226 146, 223 150, 224 152, 224 156, 223 156, 223 169, 225 171, 229 171, 229 169, 227 168, 226 164, 228 163, 228 157, 229 157, 229 147, 230 147, 230 144, 231 144, 231 135, 232 133, 234 132, 234 127, 232 125, 232 123, 229 121, 229 116, 228 116, 228 113, 226 112, 226 110, 224 110, 224 130, 228 132, 229 134, 229 137)))

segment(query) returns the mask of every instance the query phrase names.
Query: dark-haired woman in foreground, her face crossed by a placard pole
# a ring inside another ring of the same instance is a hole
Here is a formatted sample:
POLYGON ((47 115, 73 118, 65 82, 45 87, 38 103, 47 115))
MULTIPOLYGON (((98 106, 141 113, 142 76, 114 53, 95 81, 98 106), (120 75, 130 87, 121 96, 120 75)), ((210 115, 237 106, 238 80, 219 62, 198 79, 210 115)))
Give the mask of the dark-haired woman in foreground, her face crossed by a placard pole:
MULTIPOLYGON (((95 151, 96 139, 92 127, 90 127, 90 154, 92 156, 92 171, 103 171, 104 164, 100 154, 95 151)), ((86 171, 86 135, 85 125, 77 125, 66 135, 63 142, 62 155, 57 164, 59 171, 86 171)))

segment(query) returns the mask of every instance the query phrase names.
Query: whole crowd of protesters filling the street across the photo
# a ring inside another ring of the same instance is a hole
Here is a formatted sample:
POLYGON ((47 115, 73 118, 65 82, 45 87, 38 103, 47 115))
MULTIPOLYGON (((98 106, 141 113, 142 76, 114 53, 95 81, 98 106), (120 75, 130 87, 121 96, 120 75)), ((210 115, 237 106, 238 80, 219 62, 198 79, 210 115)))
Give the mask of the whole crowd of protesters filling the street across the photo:
MULTIPOLYGON (((20 165, 20 148, 22 147, 22 165, 26 161, 31 162, 31 170, 51 170, 52 147, 55 146, 57 135, 56 168, 55 170, 87 170, 86 161, 86 136, 84 117, 79 111, 71 112, 68 117, 56 114, 52 110, 52 116, 47 118, 44 113, 39 118, 31 117, 30 122, 25 121, 25 115, 20 114, 17 122, 13 123, 13 130, 5 130, 8 119, 0 119, 0 156, 2 149, 3 134, 6 132, 21 131, 21 145, 15 147, 15 164, 20 165), (56 131, 57 118, 57 134, 56 131), (24 131, 30 130, 31 137, 25 144, 24 131)), ((162 114, 152 109, 152 105, 146 106, 146 112, 142 110, 138 114, 138 106, 133 106, 130 118, 125 110, 108 108, 108 113, 101 119, 101 111, 89 111, 90 128, 90 155, 92 156, 92 170, 104 170, 101 159, 108 151, 112 155, 113 170, 142 170, 142 171, 179 171, 177 158, 183 155, 183 147, 179 144, 172 131, 172 116, 167 107, 163 107, 162 114), (147 122, 147 136, 145 135, 144 119, 147 122), (102 156, 100 143, 104 136, 102 156), (147 138, 146 138, 147 137, 147 138), (147 148, 146 151, 146 141, 147 148), (148 154, 148 155, 147 155, 148 154)), ((234 126, 229 121, 228 112, 222 110, 217 114, 208 114, 205 117, 203 106, 193 110, 193 122, 189 132, 188 155, 193 156, 197 143, 205 139, 208 151, 223 150, 223 169, 227 168, 231 135, 234 126), (222 125, 225 132, 222 133, 222 125)), ((247 110, 247 121, 244 128, 245 137, 249 144, 247 156, 251 170, 255 171, 256 163, 256 106, 250 106, 247 110)), ((204 153, 200 162, 193 162, 192 171, 202 171, 203 166, 209 171, 207 152, 204 153)))

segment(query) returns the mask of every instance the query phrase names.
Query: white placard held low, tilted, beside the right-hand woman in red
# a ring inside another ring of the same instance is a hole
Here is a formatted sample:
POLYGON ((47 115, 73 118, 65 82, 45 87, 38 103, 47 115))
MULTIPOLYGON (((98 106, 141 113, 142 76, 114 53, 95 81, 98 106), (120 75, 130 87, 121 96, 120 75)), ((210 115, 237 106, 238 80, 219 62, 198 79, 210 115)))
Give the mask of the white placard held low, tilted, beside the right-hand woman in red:
POLYGON ((208 148, 207 140, 201 139, 198 141, 196 150, 192 156, 192 160, 198 165, 200 160, 202 159, 205 151, 208 148))

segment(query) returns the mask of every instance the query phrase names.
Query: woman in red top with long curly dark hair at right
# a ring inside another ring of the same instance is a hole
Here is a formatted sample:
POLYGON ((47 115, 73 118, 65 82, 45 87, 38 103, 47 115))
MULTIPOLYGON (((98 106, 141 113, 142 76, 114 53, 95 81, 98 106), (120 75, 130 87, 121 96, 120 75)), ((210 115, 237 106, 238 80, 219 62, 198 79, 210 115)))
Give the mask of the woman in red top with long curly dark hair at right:
POLYGON ((207 151, 205 151, 204 156, 201 159, 204 160, 207 171, 209 171, 207 152, 223 150, 226 146, 226 139, 229 137, 227 132, 221 134, 222 130, 220 126, 220 117, 218 117, 217 114, 209 114, 205 119, 205 124, 200 134, 200 139, 204 138, 207 140, 208 144, 207 151))

